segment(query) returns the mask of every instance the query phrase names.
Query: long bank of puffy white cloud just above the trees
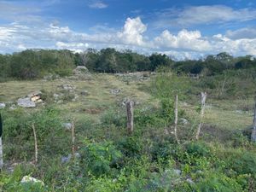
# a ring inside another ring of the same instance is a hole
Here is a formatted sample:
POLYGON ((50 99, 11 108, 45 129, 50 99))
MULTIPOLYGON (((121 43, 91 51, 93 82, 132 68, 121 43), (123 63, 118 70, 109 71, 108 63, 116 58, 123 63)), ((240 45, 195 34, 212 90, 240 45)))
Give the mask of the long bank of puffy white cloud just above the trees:
POLYGON ((200 31, 183 29, 177 33, 169 30, 160 32, 153 40, 148 40, 144 33, 147 25, 137 18, 127 18, 125 25, 119 31, 75 32, 68 26, 56 24, 46 26, 24 26, 12 23, 0 27, 0 52, 13 52, 22 49, 133 49, 141 53, 154 51, 172 55, 177 59, 193 59, 207 54, 228 52, 232 55, 256 55, 256 38, 234 38, 240 31, 216 34, 205 37, 200 31), (233 38, 232 38, 232 35, 233 38))

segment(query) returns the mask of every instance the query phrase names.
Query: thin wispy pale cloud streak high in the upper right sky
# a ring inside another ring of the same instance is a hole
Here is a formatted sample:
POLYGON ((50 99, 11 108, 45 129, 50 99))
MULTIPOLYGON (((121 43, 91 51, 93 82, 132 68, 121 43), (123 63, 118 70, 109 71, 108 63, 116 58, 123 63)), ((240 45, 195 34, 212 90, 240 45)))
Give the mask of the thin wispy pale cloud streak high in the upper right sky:
POLYGON ((256 19, 256 9, 233 9, 224 5, 164 9, 155 13, 156 26, 193 26, 256 19))

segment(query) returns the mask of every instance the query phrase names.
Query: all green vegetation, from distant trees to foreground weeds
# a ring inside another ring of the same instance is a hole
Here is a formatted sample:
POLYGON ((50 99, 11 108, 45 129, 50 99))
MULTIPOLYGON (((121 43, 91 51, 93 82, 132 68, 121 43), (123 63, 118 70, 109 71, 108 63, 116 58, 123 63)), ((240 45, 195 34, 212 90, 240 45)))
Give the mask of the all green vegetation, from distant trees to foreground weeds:
POLYGON ((256 61, 250 56, 221 53, 172 61, 166 55, 114 49, 83 54, 26 50, 0 55, 0 67, 0 102, 7 105, 0 109, 1 191, 256 191, 256 146, 247 134, 256 85, 256 61), (49 73, 71 75, 78 65, 90 70, 90 79, 41 79, 49 73), (137 71, 155 73, 126 73, 137 71), (110 74, 118 72, 125 73, 110 74), (61 84, 76 88, 63 91, 61 84), (9 102, 33 90, 43 92, 44 104, 11 108, 15 103, 9 102), (207 92, 207 106, 195 141, 201 91, 207 92), (56 93, 62 93, 63 102, 55 102, 56 93), (180 144, 172 133, 176 95, 180 144), (136 103, 132 134, 126 130, 127 98, 136 103), (66 160, 73 143, 64 124, 73 119, 79 154, 66 160), (32 125, 38 137, 37 164, 32 125), (24 176, 44 184, 21 183, 24 176))

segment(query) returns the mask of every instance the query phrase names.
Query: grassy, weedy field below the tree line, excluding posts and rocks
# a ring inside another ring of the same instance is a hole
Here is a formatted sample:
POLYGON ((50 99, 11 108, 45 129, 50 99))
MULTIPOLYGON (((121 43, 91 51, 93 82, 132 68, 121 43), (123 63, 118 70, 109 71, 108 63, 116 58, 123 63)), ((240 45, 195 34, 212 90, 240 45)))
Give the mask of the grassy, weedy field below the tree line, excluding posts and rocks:
MULTIPOLYGON (((13 111, 8 104, 2 111, 3 125, 8 129, 3 137, 5 168, 16 168, 14 174, 7 171, 0 177, 0 189, 26 191, 20 186, 20 178, 29 174, 46 183, 47 189, 39 186, 38 191, 254 191, 255 183, 250 182, 256 170, 247 166, 256 165, 252 160, 255 147, 246 137, 233 136, 252 125, 252 96, 207 100, 201 141, 178 146, 174 137, 166 133, 172 126, 166 123, 160 99, 151 92, 152 80, 154 76, 131 75, 127 79, 97 73, 87 80, 0 83, 0 102, 15 102, 35 90, 44 90, 46 96, 46 104, 37 108, 13 111), (53 101, 53 94, 63 91, 62 84, 76 87, 67 93, 67 96, 79 96, 76 101, 69 97, 62 103, 53 101), (116 89, 119 93, 111 93, 116 89), (81 94, 85 90, 88 96, 81 94), (125 98, 136 102, 133 136, 127 135, 125 130, 125 106, 122 104, 125 98), (61 124, 73 118, 76 120, 76 150, 82 159, 61 164, 61 157, 71 153, 71 133, 61 124), (32 123, 39 138, 37 166, 28 164, 33 160, 32 123), (233 162, 232 155, 241 162, 233 162), (181 170, 182 174, 169 172, 168 175, 168 170, 173 168, 181 170), (189 184, 187 179, 197 183, 189 184), (154 187, 151 189, 149 185, 154 187)), ((179 102, 179 116, 189 120, 188 125, 178 123, 182 143, 189 141, 181 132, 189 131, 192 137, 199 122, 196 109, 200 106, 200 97, 190 98, 179 102)))

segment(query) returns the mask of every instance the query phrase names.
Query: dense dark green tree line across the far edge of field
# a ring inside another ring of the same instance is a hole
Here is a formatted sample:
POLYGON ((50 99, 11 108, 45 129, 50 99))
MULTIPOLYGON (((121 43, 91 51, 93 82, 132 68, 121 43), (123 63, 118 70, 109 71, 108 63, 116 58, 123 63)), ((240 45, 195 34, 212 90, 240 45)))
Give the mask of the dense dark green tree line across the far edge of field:
POLYGON ((198 60, 174 61, 165 54, 142 55, 112 48, 87 49, 83 53, 67 49, 26 49, 0 55, 0 79, 39 79, 49 73, 68 76, 76 66, 85 66, 90 72, 99 73, 154 71, 158 67, 171 67, 177 73, 211 76, 228 69, 255 69, 256 59, 251 55, 233 57, 219 53, 198 60))

